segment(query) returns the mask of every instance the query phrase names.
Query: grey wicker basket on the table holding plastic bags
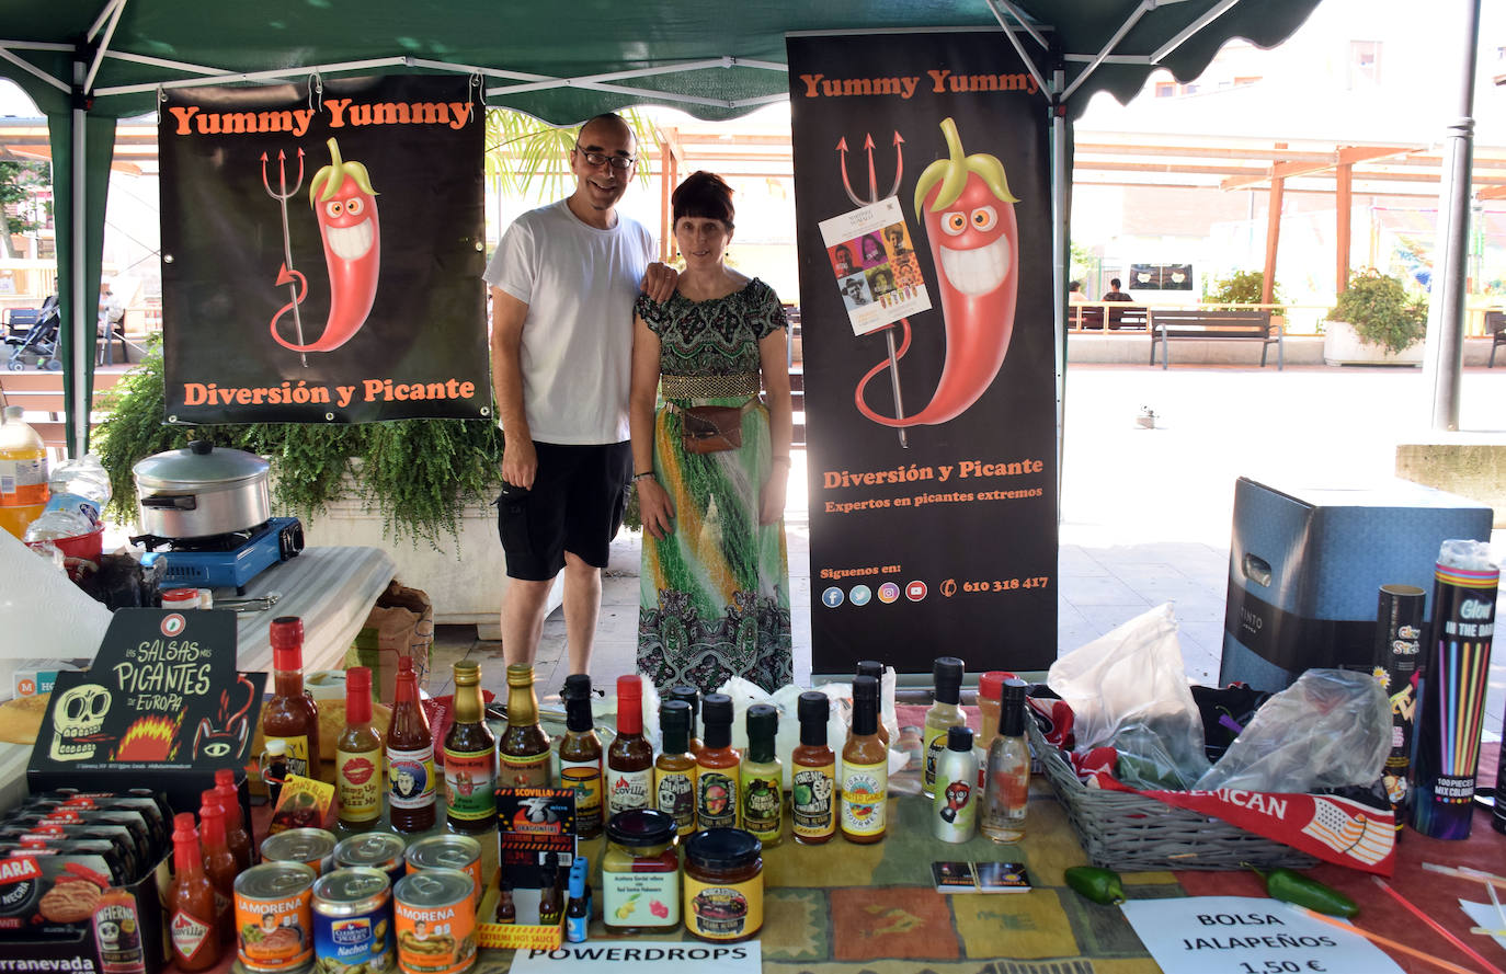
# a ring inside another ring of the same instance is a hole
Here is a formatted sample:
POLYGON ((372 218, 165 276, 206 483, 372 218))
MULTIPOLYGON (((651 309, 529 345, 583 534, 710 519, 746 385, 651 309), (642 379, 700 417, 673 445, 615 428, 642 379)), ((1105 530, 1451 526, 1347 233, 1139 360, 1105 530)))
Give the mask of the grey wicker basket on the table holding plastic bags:
POLYGON ((1241 863, 1303 869, 1318 863, 1304 852, 1247 832, 1223 819, 1175 808, 1142 795, 1087 787, 1078 781, 1071 762, 1045 742, 1035 721, 1026 721, 1026 732, 1051 790, 1066 808, 1066 817, 1093 866, 1145 872, 1239 869, 1241 863))

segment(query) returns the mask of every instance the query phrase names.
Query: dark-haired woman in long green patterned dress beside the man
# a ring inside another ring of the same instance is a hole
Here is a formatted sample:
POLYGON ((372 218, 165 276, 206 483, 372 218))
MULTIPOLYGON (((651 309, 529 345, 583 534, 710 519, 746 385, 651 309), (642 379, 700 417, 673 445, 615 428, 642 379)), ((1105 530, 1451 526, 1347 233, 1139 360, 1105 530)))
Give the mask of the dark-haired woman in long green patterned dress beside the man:
POLYGON ((634 307, 633 482, 646 534, 639 670, 660 689, 711 691, 741 676, 774 691, 792 677, 785 310, 768 285, 723 260, 733 209, 720 176, 694 173, 672 205, 685 269, 669 301, 634 307), (685 409, 700 405, 739 408, 741 446, 687 452, 685 409))

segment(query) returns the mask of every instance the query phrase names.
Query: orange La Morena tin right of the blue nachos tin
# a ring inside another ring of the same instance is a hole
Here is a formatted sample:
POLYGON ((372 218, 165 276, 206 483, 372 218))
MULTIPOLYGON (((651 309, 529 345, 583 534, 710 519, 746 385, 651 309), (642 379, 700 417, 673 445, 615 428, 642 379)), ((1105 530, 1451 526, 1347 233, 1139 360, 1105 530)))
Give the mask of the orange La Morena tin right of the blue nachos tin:
POLYGON ((393 891, 398 969, 404 974, 459 974, 476 963, 476 903, 471 878, 458 869, 429 869, 398 881, 393 891))

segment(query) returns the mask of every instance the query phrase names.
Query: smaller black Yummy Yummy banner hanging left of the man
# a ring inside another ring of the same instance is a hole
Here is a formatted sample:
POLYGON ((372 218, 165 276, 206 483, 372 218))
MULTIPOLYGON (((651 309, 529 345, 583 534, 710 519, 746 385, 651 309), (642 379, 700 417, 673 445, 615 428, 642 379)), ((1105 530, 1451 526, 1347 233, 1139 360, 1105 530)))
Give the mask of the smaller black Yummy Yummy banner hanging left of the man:
POLYGON ((169 422, 483 415, 483 114, 453 75, 170 93, 169 422))

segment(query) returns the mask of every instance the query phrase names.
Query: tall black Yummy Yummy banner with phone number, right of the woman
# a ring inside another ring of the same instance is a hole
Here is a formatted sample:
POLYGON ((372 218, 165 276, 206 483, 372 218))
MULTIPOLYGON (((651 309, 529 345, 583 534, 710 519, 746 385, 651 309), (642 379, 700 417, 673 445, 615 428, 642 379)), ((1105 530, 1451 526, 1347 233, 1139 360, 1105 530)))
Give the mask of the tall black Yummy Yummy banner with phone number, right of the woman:
POLYGON ((812 668, 1056 659, 1047 98, 995 32, 791 36, 812 668))

